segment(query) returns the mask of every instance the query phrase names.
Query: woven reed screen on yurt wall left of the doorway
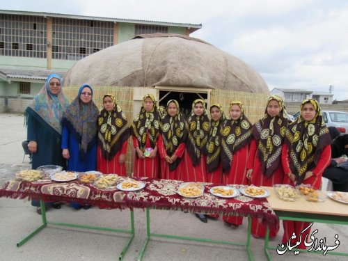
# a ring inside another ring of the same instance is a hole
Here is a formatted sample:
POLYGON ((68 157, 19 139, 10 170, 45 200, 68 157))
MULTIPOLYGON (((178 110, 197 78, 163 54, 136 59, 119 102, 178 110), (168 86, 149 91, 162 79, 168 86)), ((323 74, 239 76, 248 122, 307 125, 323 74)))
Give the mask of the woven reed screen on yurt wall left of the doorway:
MULTIPOLYGON (((116 97, 117 104, 125 112, 128 120, 128 125, 133 121, 133 89, 132 87, 116 87, 116 86, 93 86, 93 101, 101 111, 103 108, 103 97, 106 93, 110 93, 116 97)), ((64 95, 72 102, 77 93, 79 93, 79 86, 64 86, 64 95)), ((131 138, 128 140, 126 166, 127 175, 132 171, 132 148, 133 141, 131 138)))

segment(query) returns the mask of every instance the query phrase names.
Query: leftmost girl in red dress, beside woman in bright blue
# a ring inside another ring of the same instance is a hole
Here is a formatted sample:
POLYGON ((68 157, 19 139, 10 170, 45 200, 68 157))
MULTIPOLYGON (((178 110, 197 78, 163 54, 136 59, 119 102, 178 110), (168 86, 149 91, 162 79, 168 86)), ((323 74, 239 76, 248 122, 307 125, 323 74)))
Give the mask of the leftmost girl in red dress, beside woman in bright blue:
POLYGON ((125 158, 130 136, 127 118, 112 94, 103 97, 104 109, 97 121, 97 171, 127 175, 125 158))

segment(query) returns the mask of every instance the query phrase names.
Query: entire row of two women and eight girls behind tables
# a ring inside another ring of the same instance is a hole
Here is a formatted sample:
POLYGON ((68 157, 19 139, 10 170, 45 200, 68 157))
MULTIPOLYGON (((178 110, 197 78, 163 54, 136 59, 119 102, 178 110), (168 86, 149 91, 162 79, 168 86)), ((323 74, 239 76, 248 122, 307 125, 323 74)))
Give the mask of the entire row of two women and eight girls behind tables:
MULTIPOLYGON (((26 110, 31 127, 28 140, 33 168, 62 165, 56 153, 61 148, 63 158, 68 159, 68 171, 97 170, 126 175, 125 155, 130 135, 136 151, 134 177, 256 186, 303 183, 319 189, 322 173, 330 163, 329 130, 319 104, 313 99, 304 100, 301 116, 288 122, 282 98, 272 95, 267 100, 264 116, 252 125, 242 102, 237 100, 230 102, 228 118, 220 104, 212 104, 210 120, 205 101, 195 100, 191 116, 185 120, 176 100, 169 100, 165 109, 157 109, 155 97, 148 94, 128 127, 125 113, 113 95, 104 95, 104 108, 99 112, 90 85, 82 85, 70 105, 60 86, 60 77, 56 74, 49 77, 39 93, 41 98, 35 98, 26 110), (58 86, 58 91, 51 88, 51 81, 56 81, 53 87, 58 86), (33 129, 33 125, 38 129, 43 125, 51 132, 44 138, 52 139, 50 144, 54 148, 42 151, 46 140, 40 139, 48 132, 38 135, 40 130, 33 129), (48 151, 54 152, 49 159, 48 151)), ((207 222, 203 214, 196 216, 207 222)), ((242 217, 223 216, 223 221, 237 227, 242 224, 242 217)), ((290 240, 293 232, 298 238, 307 226, 305 222, 283 221, 283 242, 290 240)), ((277 232, 271 230, 270 237, 275 237, 277 232)), ((252 219, 251 233, 254 237, 264 237, 266 226, 252 219)))

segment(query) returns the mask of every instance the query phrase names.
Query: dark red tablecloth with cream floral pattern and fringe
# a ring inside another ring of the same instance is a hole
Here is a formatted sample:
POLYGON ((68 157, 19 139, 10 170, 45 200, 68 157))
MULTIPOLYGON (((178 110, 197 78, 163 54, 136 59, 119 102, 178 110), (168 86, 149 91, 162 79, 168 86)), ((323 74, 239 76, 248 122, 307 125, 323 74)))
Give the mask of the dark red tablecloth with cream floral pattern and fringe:
POLYGON ((0 197, 65 203, 75 201, 81 204, 96 205, 100 208, 148 207, 181 209, 208 214, 251 216, 262 219, 270 228, 279 226, 278 217, 269 206, 266 198, 250 198, 242 194, 236 198, 219 198, 209 193, 209 189, 213 187, 212 183, 205 183, 203 196, 184 198, 177 194, 177 187, 182 184, 181 181, 155 180, 147 177, 137 180, 144 182, 145 188, 127 192, 120 191, 116 187, 101 190, 78 180, 72 182, 12 180, 3 184, 2 189, 0 189, 0 197))

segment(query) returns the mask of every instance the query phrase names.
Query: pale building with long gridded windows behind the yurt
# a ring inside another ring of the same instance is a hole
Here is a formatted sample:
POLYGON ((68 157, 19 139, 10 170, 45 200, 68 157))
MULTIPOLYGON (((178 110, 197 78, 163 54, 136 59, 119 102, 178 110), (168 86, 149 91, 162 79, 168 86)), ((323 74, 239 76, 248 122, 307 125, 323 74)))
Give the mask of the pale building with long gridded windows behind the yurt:
POLYGON ((81 58, 143 33, 190 35, 180 24, 0 10, 0 112, 23 111, 48 74, 64 74, 81 58))

